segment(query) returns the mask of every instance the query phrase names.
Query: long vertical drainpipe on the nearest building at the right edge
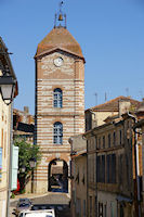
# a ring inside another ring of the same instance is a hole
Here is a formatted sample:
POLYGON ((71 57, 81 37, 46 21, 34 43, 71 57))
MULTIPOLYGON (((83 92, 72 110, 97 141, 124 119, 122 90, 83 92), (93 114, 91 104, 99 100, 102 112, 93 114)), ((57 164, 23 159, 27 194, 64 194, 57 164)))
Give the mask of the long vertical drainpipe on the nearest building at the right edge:
MULTIPOLYGON (((131 115, 128 112, 129 117, 131 117, 134 123, 138 123, 138 118, 133 115, 131 115)), ((138 207, 138 217, 141 217, 141 195, 140 195, 140 166, 139 166, 139 145, 138 145, 138 133, 136 130, 133 129, 134 131, 134 164, 135 164, 135 178, 136 178, 136 207, 138 207)))

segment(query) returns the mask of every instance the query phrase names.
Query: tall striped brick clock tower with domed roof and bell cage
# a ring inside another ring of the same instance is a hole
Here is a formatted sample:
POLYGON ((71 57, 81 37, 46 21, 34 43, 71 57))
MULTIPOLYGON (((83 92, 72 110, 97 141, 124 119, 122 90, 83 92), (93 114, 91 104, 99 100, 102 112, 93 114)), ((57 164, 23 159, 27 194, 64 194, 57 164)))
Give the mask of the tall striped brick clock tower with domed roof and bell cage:
POLYGON ((84 58, 79 43, 63 25, 38 44, 36 61, 36 144, 42 159, 34 176, 34 191, 69 191, 68 138, 84 131, 84 58))

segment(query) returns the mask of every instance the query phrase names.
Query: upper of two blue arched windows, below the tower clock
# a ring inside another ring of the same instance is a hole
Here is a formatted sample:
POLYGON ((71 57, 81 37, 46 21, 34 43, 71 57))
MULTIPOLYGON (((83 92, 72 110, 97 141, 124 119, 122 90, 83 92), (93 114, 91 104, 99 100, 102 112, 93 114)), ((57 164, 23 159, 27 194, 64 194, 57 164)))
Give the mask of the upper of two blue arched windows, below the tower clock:
POLYGON ((54 107, 63 106, 63 92, 60 88, 56 88, 53 91, 53 106, 54 107))

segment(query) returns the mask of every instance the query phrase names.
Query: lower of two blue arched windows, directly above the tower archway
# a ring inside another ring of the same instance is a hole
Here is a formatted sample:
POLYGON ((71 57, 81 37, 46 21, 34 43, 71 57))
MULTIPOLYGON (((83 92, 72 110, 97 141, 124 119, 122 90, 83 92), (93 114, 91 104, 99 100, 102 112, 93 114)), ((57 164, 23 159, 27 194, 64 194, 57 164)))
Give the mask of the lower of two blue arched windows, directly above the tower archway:
POLYGON ((54 144, 63 144, 63 125, 62 123, 54 123, 53 125, 53 140, 54 144))

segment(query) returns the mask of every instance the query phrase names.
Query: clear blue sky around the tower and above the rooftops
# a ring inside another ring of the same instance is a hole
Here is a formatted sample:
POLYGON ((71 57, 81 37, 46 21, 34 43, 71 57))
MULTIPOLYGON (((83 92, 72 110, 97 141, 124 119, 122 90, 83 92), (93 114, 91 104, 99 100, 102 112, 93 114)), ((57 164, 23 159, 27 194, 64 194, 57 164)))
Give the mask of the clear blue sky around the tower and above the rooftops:
MULTIPOLYGON (((14 107, 35 113, 37 44, 54 25, 58 0, 0 0, 0 27, 18 79, 14 107)), ((67 29, 86 58, 86 108, 118 95, 144 98, 144 1, 65 0, 67 29), (94 94, 97 94, 97 100, 94 94)))

